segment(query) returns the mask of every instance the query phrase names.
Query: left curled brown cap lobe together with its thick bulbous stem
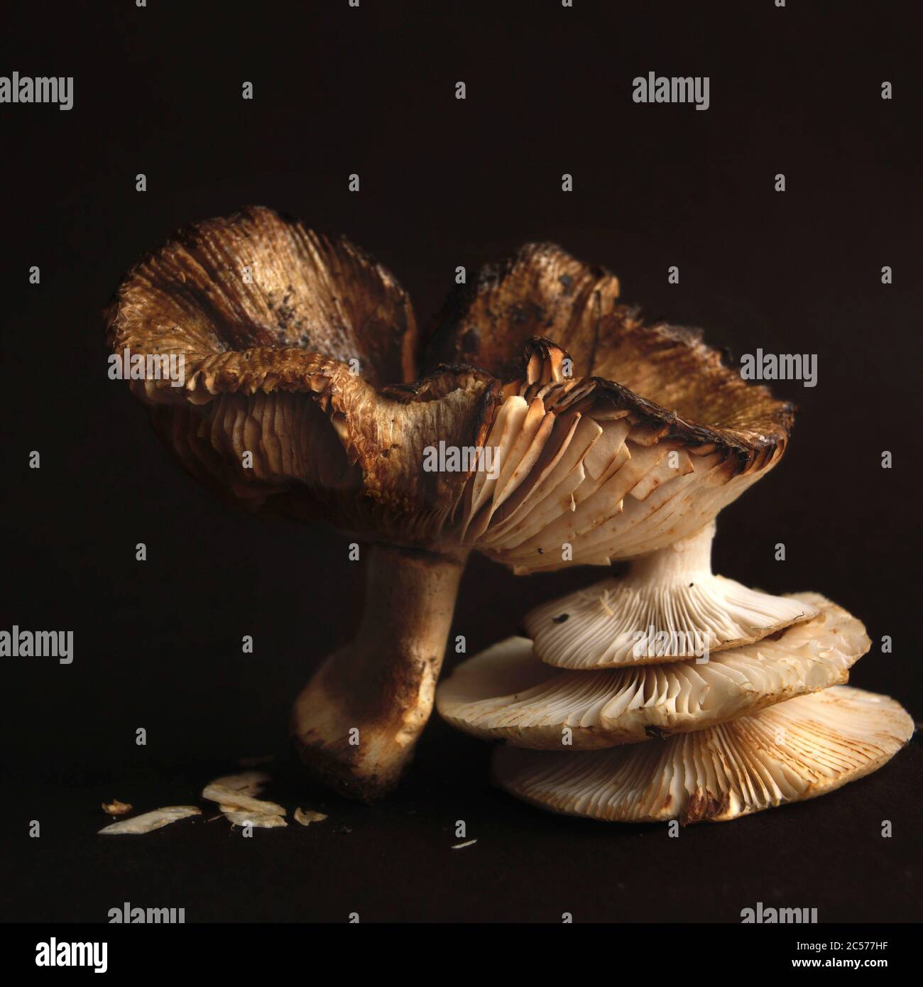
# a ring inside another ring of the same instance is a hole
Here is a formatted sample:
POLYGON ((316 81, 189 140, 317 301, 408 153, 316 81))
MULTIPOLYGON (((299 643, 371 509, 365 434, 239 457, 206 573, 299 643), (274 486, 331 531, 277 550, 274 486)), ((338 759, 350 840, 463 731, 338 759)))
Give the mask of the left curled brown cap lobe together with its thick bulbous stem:
POLYGON ((467 554, 443 529, 469 472, 426 472, 424 450, 483 446, 498 382, 459 368, 405 386, 417 329, 397 281, 265 208, 178 233, 128 272, 107 321, 114 352, 147 361, 132 391, 192 476, 368 543, 357 634, 298 698, 293 733, 334 787, 382 794, 429 715, 467 554), (151 372, 171 357, 179 387, 151 372))

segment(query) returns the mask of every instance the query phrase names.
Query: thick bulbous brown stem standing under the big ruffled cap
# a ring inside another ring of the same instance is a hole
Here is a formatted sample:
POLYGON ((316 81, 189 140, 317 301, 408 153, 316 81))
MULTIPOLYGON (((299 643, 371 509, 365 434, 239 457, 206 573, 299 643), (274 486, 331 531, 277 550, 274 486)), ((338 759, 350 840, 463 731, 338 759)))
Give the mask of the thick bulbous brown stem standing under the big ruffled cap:
POLYGON ((323 662, 292 711, 295 748, 346 797, 393 789, 429 719, 464 558, 375 545, 353 640, 323 662))

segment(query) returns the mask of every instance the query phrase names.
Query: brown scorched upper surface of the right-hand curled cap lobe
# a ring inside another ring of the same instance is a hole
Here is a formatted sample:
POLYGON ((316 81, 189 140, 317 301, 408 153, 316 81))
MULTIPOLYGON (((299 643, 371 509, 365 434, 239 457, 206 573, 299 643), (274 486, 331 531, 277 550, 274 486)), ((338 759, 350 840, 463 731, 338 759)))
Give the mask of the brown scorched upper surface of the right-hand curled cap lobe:
POLYGON ((646 325, 618 296, 618 279, 604 267, 554 244, 526 244, 449 296, 430 334, 429 363, 468 363, 508 379, 522 345, 544 337, 613 407, 665 424, 686 444, 715 442, 745 461, 785 444, 793 405, 747 384, 700 330, 646 325))

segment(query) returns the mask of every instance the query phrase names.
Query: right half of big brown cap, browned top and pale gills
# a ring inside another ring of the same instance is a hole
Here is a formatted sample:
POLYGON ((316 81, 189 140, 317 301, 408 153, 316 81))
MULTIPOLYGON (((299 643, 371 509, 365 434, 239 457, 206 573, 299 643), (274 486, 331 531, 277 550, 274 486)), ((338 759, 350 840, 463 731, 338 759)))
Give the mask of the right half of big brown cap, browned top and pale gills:
POLYGON ((794 406, 743 381, 699 331, 646 325, 617 296, 602 268, 529 244, 456 289, 431 335, 430 360, 507 381, 488 444, 519 479, 472 496, 473 479, 464 531, 516 572, 606 566, 688 537, 788 443, 794 406))

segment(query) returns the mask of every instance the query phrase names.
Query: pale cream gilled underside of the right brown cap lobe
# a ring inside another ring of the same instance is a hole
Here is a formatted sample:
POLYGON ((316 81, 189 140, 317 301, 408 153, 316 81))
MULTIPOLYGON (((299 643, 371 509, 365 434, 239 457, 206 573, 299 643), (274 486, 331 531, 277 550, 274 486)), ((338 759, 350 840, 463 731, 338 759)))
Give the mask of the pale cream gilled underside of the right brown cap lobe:
POLYGON ((488 433, 500 480, 475 474, 461 508, 465 543, 516 572, 607 566, 691 537, 785 449, 782 436, 745 455, 702 443, 698 426, 623 389, 563 377, 552 343, 528 346, 488 433))

